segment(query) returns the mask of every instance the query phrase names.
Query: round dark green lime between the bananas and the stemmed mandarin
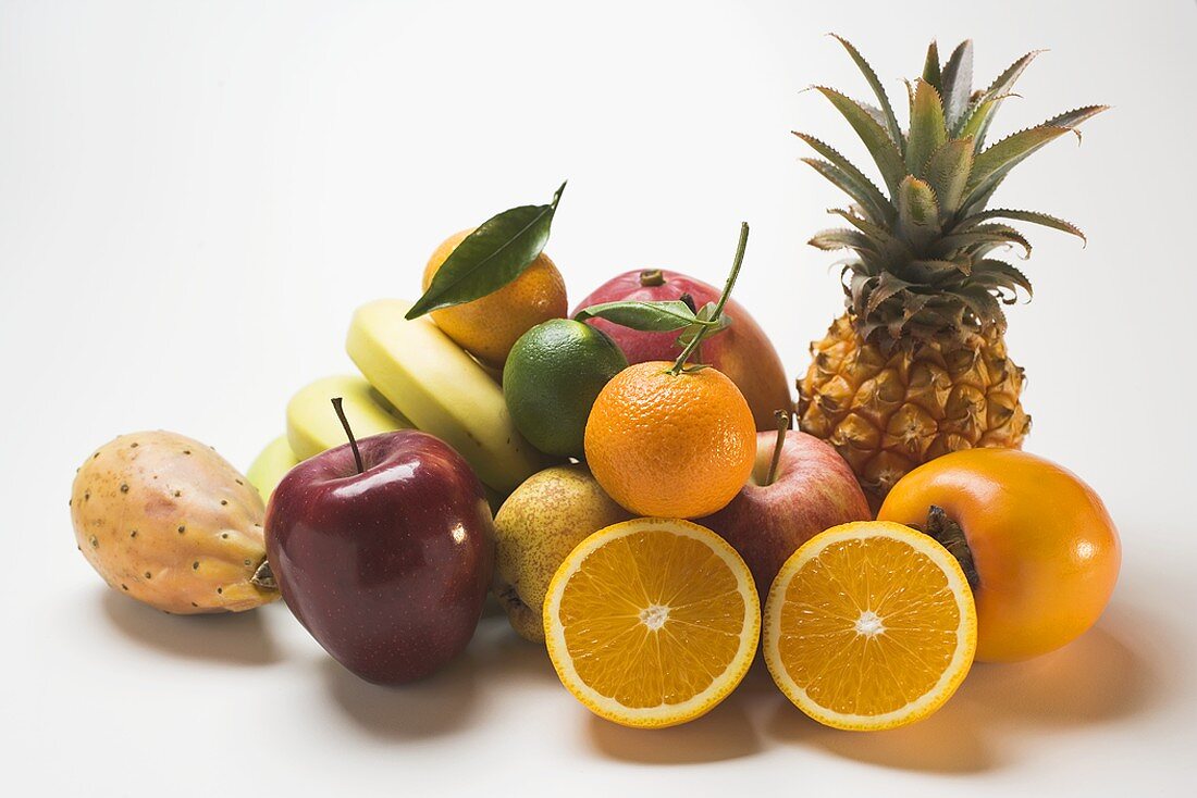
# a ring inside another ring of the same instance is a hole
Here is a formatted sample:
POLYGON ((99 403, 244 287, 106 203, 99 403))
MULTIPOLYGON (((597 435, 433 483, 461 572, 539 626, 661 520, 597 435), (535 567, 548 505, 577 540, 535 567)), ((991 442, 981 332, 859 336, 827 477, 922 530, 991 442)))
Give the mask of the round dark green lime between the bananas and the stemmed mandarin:
POLYGON ((553 318, 519 336, 503 366, 503 397, 536 449, 582 457, 590 406, 627 358, 606 333, 553 318))

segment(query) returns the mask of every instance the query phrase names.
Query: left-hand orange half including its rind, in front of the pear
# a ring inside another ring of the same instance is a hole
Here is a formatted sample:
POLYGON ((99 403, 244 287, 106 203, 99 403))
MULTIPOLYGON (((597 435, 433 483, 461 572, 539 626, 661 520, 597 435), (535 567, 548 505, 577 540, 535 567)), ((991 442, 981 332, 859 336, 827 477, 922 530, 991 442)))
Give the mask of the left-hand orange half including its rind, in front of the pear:
POLYGON ((561 683, 625 726, 673 726, 709 712, 748 671, 759 635, 748 566, 686 520, 598 530, 565 559, 545 598, 561 683))

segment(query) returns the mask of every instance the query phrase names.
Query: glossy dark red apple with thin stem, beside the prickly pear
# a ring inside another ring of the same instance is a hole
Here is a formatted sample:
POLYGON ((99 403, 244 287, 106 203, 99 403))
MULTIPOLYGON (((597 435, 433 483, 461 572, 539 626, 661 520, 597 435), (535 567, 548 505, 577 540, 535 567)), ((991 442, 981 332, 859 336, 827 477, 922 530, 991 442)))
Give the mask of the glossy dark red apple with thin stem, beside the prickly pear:
POLYGON ((439 438, 403 430, 304 461, 279 482, 266 550, 287 607, 364 680, 426 676, 469 642, 494 560, 482 486, 439 438))

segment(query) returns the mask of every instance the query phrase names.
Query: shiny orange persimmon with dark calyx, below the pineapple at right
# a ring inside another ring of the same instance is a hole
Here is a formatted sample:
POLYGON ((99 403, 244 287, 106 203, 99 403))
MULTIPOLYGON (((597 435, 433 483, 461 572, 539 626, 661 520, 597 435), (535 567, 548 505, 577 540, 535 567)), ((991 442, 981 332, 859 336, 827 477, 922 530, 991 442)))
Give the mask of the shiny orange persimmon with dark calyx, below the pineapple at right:
POLYGON ((971 449, 904 476, 877 516, 915 525, 958 556, 977 602, 977 659, 1035 657, 1096 622, 1122 547, 1093 489, 1013 449, 971 449))

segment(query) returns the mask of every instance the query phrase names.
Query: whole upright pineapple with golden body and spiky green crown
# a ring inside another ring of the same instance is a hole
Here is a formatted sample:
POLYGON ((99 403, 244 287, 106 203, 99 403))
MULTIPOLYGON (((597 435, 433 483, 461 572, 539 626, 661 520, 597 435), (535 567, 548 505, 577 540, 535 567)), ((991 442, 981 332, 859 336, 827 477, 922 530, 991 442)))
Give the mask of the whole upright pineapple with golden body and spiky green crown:
MULTIPOLYGON (((810 239, 850 250, 843 261, 846 312, 798 380, 800 426, 831 441, 880 500, 909 470, 972 446, 1019 447, 1031 428, 1020 402, 1023 372, 1005 353, 1003 304, 1031 282, 995 250, 1031 244, 1005 221, 1081 231, 1034 211, 986 209, 1007 173, 1049 141, 1076 133, 1104 105, 1078 108, 985 146, 1002 102, 1037 53, 972 91, 972 43, 941 66, 931 43, 923 77, 907 84, 910 127, 899 127, 876 73, 859 67, 879 106, 818 86, 876 163, 886 191, 839 152, 796 133, 821 158, 803 159, 851 199, 836 208, 850 227, 810 239)), ((1080 135, 1080 134, 1077 134, 1080 135)))

